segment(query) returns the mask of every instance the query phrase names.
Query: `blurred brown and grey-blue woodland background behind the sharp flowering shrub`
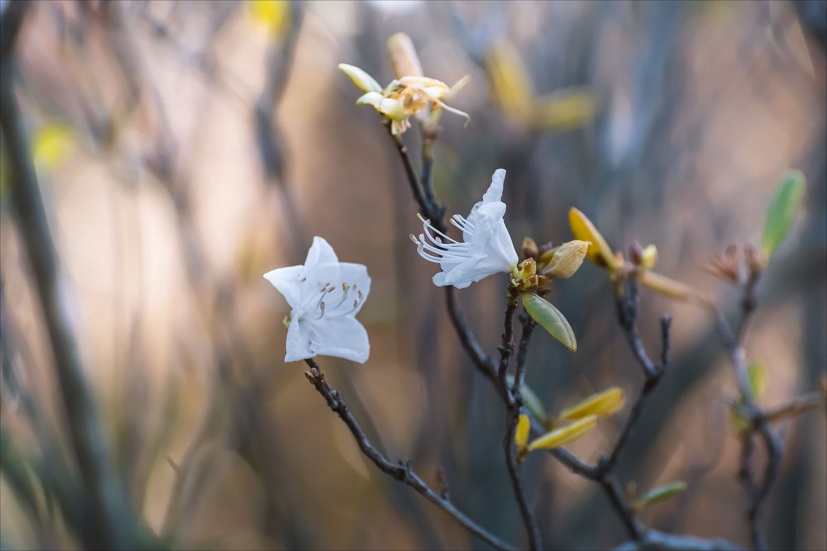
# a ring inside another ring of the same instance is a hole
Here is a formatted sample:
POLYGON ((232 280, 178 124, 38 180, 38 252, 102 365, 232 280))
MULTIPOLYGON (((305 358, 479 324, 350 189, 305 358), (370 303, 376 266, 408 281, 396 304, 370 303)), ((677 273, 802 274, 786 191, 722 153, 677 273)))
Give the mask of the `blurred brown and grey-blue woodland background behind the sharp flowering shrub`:
MULTIPOLYGON (((734 317, 737 294, 700 267, 729 244, 757 243, 781 174, 803 170, 805 208, 758 289, 746 349, 767 371, 764 406, 815 391, 825 374, 823 1, 4 0, 0 10, 3 63, 13 64, 4 85, 16 93, 60 259, 60 311, 97 411, 108 495, 124 496, 123 515, 167 544, 485 549, 367 462, 304 363, 284 363, 288 306, 261 276, 302 264, 313 235, 373 279, 359 316, 370 359, 319 358, 327 380, 390 460, 410 458, 434 487, 441 470, 462 511, 525 544, 501 453, 504 406, 458 347, 431 283, 436 267, 409 242, 421 224, 380 117, 355 105, 361 92, 337 69, 353 64, 389 83, 385 42, 398 31, 428 77, 452 85, 471 75, 452 102, 471 123, 440 121, 438 199, 465 215, 506 169, 518 247, 524 236, 570 240, 567 211, 578 207, 615 249, 657 245, 659 272, 734 317)), ((418 161, 418 129, 404 140, 418 161)), ((73 527, 94 531, 100 520, 72 513, 87 479, 69 460, 5 137, 0 154, 0 545, 83 548, 90 539, 73 527)), ((504 285, 496 276, 458 293, 490 353, 504 285)), ((580 346, 570 354, 535 336, 527 382, 547 410, 612 385, 636 396, 642 376, 605 272, 584 264, 548 298, 580 346)), ((640 492, 686 480, 686 492, 642 519, 746 546, 724 348, 696 306, 645 292, 642 301, 651 354, 658 317, 674 317, 673 361, 621 481, 640 492)), ((628 409, 571 451, 594 463, 628 409)), ((764 512, 770 548, 825 549, 824 411, 781 431, 764 512)), ((547 548, 626 539, 599 487, 546 454, 532 454, 523 473, 547 548)))

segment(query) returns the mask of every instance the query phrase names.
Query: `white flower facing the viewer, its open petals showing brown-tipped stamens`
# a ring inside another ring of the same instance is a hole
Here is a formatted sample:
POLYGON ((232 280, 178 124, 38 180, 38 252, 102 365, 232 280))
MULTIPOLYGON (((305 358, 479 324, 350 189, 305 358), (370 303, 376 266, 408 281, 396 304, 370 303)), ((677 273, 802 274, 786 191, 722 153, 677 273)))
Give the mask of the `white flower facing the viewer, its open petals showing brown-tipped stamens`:
POLYGON ((304 266, 279 268, 264 277, 291 308, 285 318, 285 362, 322 354, 365 363, 370 343, 355 317, 370 292, 365 266, 339 262, 327 241, 314 237, 304 266))

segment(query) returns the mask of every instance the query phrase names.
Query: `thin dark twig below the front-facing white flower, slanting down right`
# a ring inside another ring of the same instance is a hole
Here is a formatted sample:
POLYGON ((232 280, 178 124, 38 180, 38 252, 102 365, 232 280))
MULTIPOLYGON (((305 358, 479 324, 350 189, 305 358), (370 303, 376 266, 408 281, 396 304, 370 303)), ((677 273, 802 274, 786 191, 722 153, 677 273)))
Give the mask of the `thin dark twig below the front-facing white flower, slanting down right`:
POLYGON ((502 549, 504 551, 516 549, 510 544, 497 538, 495 535, 490 534, 480 525, 477 525, 476 522, 459 511, 451 501, 443 498, 439 495, 439 493, 433 491, 431 487, 428 487, 428 484, 423 482, 422 478, 418 477, 418 475, 414 473, 414 469, 411 467, 410 462, 399 461, 399 463, 394 464, 386 459, 384 455, 380 454, 380 452, 373 447, 373 444, 370 444, 370 440, 367 439, 367 436, 364 431, 361 430, 359 423, 351 415, 347 405, 344 401, 342 401, 342 397, 339 395, 339 392, 330 387, 330 385, 327 384, 327 381, 324 380, 324 373, 318 367, 318 363, 316 363, 313 359, 306 359, 305 362, 307 362, 308 366, 310 366, 310 371, 304 373, 308 378, 308 381, 310 381, 311 384, 313 384, 313 387, 316 388, 316 391, 324 397, 327 401, 327 406, 334 413, 336 413, 337 416, 339 416, 345 425, 347 425, 348 430, 351 431, 351 435, 353 435, 353 438, 356 439, 356 444, 359 446, 361 453, 364 454, 366 458, 370 459, 370 461, 375 464, 375 466, 379 468, 382 473, 385 473, 390 477, 393 477, 395 480, 404 482, 409 487, 414 488, 414 490, 418 493, 425 496, 428 501, 431 501, 434 505, 442 509, 442 511, 445 511, 448 515, 451 515, 454 520, 457 520, 457 522, 466 530, 471 532, 471 534, 476 535, 491 547, 502 549))

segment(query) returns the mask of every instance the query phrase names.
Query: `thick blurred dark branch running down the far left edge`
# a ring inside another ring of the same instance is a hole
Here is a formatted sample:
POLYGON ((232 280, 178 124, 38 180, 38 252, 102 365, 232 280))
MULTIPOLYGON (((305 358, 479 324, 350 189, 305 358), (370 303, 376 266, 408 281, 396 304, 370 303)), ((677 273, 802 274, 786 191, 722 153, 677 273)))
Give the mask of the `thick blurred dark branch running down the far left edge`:
MULTIPOLYGON (((12 6, 16 4, 12 2, 12 6)), ((26 3, 22 4, 21 9, 25 9, 26 3)), ((7 36, 8 31, 13 37, 17 35, 23 16, 17 19, 17 28, 7 29, 9 20, 7 17, 2 20, 3 36, 7 36)), ((4 47, 0 60, 0 126, 12 169, 12 204, 35 278, 69 435, 88 495, 90 511, 88 515, 82 515, 84 525, 79 527, 78 535, 92 548, 131 548, 131 511, 109 464, 108 446, 103 439, 92 392, 84 378, 74 328, 65 311, 66 291, 61 284, 57 251, 17 106, 13 86, 13 44, 4 47)))

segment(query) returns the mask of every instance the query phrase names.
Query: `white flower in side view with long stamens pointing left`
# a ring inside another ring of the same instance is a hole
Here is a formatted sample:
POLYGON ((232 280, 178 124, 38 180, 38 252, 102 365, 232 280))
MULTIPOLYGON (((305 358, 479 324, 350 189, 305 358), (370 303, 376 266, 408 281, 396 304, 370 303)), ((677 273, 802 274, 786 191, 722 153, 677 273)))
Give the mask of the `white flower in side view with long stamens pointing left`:
POLYGON ((491 177, 490 188, 471 209, 468 218, 458 214, 452 217, 451 223, 462 230, 462 243, 419 216, 425 233, 419 234, 419 239, 413 234, 410 238, 418 245, 419 256, 442 267, 442 272, 433 276, 433 283, 462 289, 492 273, 509 273, 517 265, 517 251, 503 221, 505 203, 500 199, 504 180, 504 169, 497 169, 491 177))

